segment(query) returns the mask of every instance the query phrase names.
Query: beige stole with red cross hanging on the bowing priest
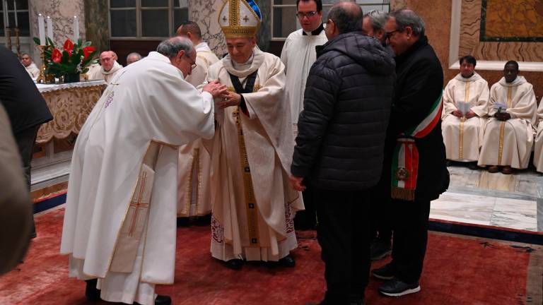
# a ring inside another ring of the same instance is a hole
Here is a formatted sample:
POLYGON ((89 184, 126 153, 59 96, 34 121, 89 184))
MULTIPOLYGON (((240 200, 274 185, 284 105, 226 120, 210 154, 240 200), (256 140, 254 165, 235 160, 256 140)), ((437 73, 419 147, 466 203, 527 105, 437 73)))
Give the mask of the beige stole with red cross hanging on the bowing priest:
POLYGON ((110 271, 116 273, 132 273, 138 246, 144 229, 147 227, 149 205, 155 178, 155 166, 161 145, 151 140, 138 174, 136 188, 132 193, 127 214, 117 238, 110 271))

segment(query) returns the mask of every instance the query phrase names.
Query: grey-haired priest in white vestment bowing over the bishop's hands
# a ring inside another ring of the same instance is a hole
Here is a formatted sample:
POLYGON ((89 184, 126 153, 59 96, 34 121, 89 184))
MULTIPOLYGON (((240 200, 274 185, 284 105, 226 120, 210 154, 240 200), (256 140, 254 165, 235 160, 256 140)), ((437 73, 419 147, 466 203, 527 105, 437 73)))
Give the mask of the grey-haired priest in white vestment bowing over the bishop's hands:
POLYGON ((156 284, 175 271, 177 147, 214 136, 218 83, 187 83, 196 59, 174 37, 113 78, 88 116, 71 162, 61 253, 86 297, 171 304, 156 284))

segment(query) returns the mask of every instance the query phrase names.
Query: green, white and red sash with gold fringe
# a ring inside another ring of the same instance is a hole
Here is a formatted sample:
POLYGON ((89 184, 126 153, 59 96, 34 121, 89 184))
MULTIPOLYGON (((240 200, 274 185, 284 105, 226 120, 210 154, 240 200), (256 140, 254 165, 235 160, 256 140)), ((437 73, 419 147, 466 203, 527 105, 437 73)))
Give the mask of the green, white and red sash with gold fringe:
POLYGON ((414 201, 416 178, 419 173, 419 150, 416 149, 415 139, 424 138, 436 127, 443 108, 443 91, 433 103, 426 118, 414 128, 400 133, 392 155, 392 187, 390 194, 393 199, 414 201))

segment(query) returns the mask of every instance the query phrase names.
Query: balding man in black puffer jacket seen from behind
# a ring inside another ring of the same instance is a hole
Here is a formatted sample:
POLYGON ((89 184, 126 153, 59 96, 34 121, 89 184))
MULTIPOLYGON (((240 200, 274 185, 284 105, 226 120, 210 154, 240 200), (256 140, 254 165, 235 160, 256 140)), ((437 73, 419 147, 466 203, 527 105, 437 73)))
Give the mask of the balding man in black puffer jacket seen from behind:
POLYGON ((381 175, 395 82, 392 54, 361 31, 363 13, 340 2, 327 17, 298 119, 291 181, 315 189, 327 292, 321 304, 362 304, 369 273, 372 188, 381 175))

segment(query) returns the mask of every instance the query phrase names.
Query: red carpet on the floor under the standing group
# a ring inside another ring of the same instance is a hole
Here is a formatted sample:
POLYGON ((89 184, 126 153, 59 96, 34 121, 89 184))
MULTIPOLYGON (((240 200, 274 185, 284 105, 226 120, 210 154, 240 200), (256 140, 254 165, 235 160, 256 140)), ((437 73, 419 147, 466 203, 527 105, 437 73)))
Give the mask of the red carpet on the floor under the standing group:
MULTIPOLYGON (((93 304, 83 295, 84 282, 68 277, 67 257, 59 255, 63 215, 60 209, 36 218, 38 237, 25 262, 0 278, 1 305, 93 304)), ((177 232, 175 285, 157 288, 176 305, 297 305, 322 298, 324 265, 314 232, 303 232, 307 238, 294 252, 296 268, 248 263, 240 271, 211 258, 209 227, 177 232)), ((422 291, 381 297, 376 292, 380 282, 372 279, 366 304, 542 304, 542 277, 543 246, 431 233, 422 291)))

